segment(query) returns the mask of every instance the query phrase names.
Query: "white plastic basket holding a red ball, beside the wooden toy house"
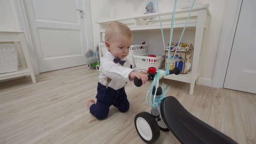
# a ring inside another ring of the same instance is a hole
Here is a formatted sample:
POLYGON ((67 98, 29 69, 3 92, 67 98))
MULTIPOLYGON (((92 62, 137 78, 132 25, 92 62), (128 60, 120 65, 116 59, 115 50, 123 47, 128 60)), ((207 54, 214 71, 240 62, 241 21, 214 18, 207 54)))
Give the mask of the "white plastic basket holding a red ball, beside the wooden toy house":
POLYGON ((155 55, 156 57, 149 57, 148 53, 133 56, 137 69, 148 70, 149 67, 159 69, 163 63, 164 55, 155 55))

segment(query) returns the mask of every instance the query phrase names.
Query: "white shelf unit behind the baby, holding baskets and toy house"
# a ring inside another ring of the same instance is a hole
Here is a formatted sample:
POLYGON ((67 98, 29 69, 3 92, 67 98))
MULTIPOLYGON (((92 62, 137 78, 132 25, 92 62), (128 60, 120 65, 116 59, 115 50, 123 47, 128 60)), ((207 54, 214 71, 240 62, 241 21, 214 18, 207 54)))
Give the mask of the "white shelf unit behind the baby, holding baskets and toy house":
MULTIPOLYGON (((205 4, 199 7, 194 7, 190 19, 187 23, 186 29, 195 29, 195 40, 194 40, 194 54, 192 69, 187 74, 180 75, 168 75, 165 79, 171 79, 181 82, 190 83, 190 95, 193 95, 194 85, 198 83, 198 78, 200 76, 200 59, 201 59, 201 45, 204 40, 203 33, 207 29, 208 19, 210 13, 208 11, 209 4, 205 4)), ((174 29, 183 29, 187 20, 190 8, 176 10, 174 29)), ((160 13, 162 20, 162 27, 164 30, 170 29, 171 27, 171 16, 173 11, 160 13)), ((119 21, 125 23, 132 31, 144 32, 144 31, 161 31, 161 26, 158 18, 158 13, 143 14, 138 16, 129 16, 123 18, 117 18, 112 20, 98 21, 99 24, 99 35, 100 42, 103 41, 103 33, 107 25, 113 21, 119 21)), ((150 46, 149 46, 150 48, 150 46)), ((164 51, 164 49, 163 49, 164 51)), ((100 49, 100 57, 102 57, 102 51, 100 49)))

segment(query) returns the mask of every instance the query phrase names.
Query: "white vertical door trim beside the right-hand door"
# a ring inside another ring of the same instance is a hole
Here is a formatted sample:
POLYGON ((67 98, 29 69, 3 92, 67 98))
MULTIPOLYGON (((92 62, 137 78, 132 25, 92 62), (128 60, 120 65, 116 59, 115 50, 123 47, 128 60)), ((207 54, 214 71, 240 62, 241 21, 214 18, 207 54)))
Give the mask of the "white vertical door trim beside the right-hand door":
POLYGON ((223 88, 224 85, 242 1, 243 0, 226 1, 226 11, 223 21, 222 35, 220 38, 220 47, 218 50, 213 82, 211 85, 214 88, 223 88))

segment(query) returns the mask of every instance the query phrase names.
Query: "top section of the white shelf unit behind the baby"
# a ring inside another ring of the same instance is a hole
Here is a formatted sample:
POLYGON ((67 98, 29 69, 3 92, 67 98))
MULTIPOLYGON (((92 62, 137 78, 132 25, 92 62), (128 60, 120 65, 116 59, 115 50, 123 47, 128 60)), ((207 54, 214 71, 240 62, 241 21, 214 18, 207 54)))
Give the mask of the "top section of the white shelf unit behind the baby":
MULTIPOLYGON (((200 13, 198 13, 200 10, 207 10, 207 7, 209 7, 208 4, 205 4, 203 6, 194 7, 191 15, 190 20, 187 23, 187 27, 196 27, 198 16, 200 18, 200 13)), ((189 13, 189 8, 187 9, 181 9, 176 10, 175 13, 175 22, 174 22, 174 28, 183 28, 184 24, 187 20, 187 15, 189 13)), ((171 21, 171 15, 172 11, 169 12, 161 12, 159 13, 162 20, 162 27, 163 29, 170 29, 170 21, 171 21)), ((208 13, 208 11, 207 11, 208 13)), ((118 21, 121 23, 125 23, 132 31, 148 31, 153 29, 161 29, 158 13, 148 13, 138 16, 128 16, 123 18, 116 18, 111 20, 102 20, 98 21, 99 24, 99 31, 100 33, 105 33, 105 29, 107 25, 113 21, 118 21)), ((207 23, 204 23, 204 27, 206 27, 207 23)))

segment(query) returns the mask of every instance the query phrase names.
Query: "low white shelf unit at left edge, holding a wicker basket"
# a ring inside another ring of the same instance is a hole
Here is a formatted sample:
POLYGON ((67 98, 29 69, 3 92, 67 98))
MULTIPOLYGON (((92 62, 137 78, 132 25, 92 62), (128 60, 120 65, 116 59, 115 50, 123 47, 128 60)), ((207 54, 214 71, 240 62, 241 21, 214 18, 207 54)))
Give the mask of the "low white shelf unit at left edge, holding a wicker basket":
POLYGON ((30 75, 32 82, 36 83, 35 74, 33 72, 29 51, 26 44, 25 34, 22 31, 0 31, 0 42, 14 43, 17 47, 20 59, 20 67, 17 72, 8 72, 0 74, 0 80, 12 79, 20 76, 30 75))

